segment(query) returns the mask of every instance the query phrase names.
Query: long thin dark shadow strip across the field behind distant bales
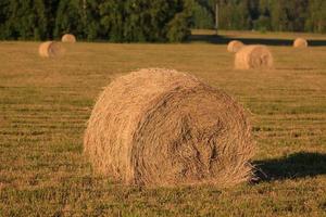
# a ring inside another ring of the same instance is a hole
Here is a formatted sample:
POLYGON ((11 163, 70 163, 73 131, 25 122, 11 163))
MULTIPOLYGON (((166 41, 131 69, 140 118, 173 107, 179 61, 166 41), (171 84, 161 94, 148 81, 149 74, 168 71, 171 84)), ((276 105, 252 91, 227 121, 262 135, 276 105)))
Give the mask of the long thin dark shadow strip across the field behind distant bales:
MULTIPOLYGON (((209 42, 216 44, 227 44, 231 40, 240 40, 247 44, 266 44, 266 46, 292 46, 291 39, 277 39, 277 38, 229 38, 218 35, 191 35, 189 41, 191 42, 209 42)), ((311 47, 326 46, 326 40, 309 40, 311 47)))

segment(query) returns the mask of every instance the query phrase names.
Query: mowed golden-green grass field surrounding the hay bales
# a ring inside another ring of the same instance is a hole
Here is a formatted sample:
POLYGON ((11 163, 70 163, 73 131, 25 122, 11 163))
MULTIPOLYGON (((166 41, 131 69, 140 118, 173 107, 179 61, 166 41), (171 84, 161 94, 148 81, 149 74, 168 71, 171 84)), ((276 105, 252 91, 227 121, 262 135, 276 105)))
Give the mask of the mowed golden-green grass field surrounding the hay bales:
POLYGON ((38 46, 0 42, 0 216, 326 216, 326 44, 271 46, 271 71, 235 71, 226 44, 199 40, 79 42, 64 44, 58 59, 39 58, 38 46), (143 67, 188 72, 242 103, 259 180, 228 189, 147 189, 95 176, 83 156, 92 105, 113 78, 143 67))

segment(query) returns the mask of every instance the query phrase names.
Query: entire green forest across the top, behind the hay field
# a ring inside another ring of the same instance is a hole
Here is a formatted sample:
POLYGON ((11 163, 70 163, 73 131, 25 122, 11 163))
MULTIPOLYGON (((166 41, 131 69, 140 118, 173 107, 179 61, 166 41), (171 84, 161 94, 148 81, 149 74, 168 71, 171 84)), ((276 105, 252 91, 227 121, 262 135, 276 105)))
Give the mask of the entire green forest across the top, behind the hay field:
POLYGON ((326 33, 326 0, 0 0, 0 39, 183 41, 190 28, 326 33))

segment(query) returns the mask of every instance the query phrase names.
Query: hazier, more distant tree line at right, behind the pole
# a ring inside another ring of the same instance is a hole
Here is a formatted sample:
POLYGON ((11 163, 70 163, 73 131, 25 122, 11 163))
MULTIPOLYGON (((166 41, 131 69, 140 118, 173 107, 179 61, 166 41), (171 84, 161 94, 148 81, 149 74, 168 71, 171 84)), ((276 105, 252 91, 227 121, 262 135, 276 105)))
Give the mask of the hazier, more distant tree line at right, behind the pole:
POLYGON ((325 0, 198 0, 195 28, 326 33, 325 0))

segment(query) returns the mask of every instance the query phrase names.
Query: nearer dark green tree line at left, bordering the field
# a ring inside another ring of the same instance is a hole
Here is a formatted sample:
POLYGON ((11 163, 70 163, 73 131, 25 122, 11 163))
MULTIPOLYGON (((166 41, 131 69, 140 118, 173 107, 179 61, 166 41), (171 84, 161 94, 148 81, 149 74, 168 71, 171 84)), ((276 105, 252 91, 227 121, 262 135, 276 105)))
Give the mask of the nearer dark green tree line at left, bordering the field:
POLYGON ((193 0, 1 0, 0 39, 183 41, 193 0))

